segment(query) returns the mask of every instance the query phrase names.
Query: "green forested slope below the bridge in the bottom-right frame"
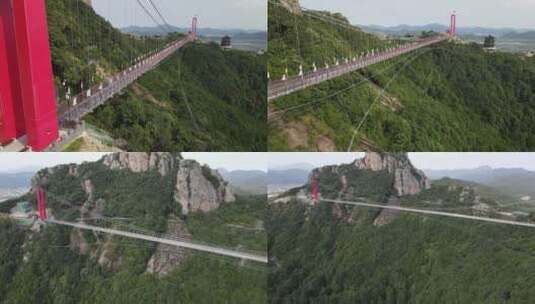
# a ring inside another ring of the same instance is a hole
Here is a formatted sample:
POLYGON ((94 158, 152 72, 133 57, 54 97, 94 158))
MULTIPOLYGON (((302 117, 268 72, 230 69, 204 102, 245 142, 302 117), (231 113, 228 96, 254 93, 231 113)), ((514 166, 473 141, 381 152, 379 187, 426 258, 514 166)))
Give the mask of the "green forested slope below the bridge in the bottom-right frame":
POLYGON ((270 209, 271 303, 530 303, 535 242, 527 228, 403 215, 372 225, 333 219, 321 204, 309 213, 270 209))

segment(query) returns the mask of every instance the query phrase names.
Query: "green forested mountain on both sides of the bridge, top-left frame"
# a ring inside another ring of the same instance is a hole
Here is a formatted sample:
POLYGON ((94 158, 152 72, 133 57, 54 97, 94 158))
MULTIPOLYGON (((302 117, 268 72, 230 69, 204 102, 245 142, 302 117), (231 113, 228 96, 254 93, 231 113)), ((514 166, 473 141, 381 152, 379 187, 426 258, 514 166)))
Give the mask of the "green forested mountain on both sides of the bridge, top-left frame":
MULTIPOLYGON (((100 83, 180 37, 136 37, 82 1, 48 0, 58 98, 100 83)), ((266 149, 265 56, 186 46, 87 117, 131 151, 266 149)))

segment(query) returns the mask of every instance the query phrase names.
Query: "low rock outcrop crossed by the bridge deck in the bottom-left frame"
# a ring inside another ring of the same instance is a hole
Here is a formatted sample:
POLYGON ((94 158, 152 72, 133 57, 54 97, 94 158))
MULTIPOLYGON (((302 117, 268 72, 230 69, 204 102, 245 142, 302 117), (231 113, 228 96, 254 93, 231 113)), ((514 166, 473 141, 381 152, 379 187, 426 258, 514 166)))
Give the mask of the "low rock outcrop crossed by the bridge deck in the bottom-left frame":
MULTIPOLYGON (((191 240, 191 234, 179 218, 167 221, 167 234, 174 237, 191 240)), ((159 244, 156 252, 147 263, 147 272, 156 273, 159 277, 168 275, 175 267, 180 266, 187 257, 187 249, 171 245, 159 244)))

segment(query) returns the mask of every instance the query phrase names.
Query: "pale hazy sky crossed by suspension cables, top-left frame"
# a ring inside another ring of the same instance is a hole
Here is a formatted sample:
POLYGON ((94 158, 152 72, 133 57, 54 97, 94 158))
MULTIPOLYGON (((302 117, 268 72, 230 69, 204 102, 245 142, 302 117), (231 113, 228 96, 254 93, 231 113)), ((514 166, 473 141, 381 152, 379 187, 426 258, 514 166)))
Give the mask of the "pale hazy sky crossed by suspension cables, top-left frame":
MULTIPOLYGON (((143 4, 151 9, 146 0, 143 4)), ((169 24, 190 27, 191 18, 199 16, 199 27, 265 30, 267 0, 153 0, 169 24)), ((136 0, 93 0, 93 7, 115 26, 154 26, 154 22, 136 0)), ((159 19, 158 19, 159 20, 159 19)))

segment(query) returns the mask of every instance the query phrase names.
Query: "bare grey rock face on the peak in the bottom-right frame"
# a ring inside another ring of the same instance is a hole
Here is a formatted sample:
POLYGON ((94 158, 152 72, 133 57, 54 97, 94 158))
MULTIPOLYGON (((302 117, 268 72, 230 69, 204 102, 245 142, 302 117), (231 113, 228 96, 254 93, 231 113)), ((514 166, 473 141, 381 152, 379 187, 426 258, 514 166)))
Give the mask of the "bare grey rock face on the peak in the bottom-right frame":
POLYGON ((364 158, 356 160, 354 165, 362 170, 386 170, 394 174, 393 189, 398 196, 413 195, 431 188, 431 181, 423 171, 411 164, 404 153, 368 152, 364 158))

